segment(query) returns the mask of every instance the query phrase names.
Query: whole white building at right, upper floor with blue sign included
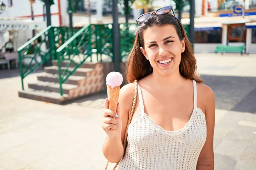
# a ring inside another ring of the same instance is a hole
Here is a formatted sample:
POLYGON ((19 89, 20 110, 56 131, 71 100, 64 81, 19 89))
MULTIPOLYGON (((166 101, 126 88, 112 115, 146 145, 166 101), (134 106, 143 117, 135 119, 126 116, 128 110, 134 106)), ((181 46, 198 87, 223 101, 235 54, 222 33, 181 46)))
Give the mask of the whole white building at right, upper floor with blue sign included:
MULTIPOLYGON (((207 12, 195 18, 195 52, 215 52, 218 45, 244 45, 244 53, 256 53, 256 0, 207 3, 203 8, 207 12)), ((182 23, 189 24, 189 18, 182 23)))

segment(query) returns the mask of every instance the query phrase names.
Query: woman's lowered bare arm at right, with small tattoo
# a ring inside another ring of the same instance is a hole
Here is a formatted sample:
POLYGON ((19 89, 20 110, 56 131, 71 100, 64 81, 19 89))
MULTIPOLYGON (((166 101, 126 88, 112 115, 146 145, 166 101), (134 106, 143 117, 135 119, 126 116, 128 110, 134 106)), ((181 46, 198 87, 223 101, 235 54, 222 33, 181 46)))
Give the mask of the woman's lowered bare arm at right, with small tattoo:
POLYGON ((201 101, 205 106, 207 138, 198 158, 196 170, 214 170, 213 134, 215 126, 215 99, 211 88, 201 86, 201 101))

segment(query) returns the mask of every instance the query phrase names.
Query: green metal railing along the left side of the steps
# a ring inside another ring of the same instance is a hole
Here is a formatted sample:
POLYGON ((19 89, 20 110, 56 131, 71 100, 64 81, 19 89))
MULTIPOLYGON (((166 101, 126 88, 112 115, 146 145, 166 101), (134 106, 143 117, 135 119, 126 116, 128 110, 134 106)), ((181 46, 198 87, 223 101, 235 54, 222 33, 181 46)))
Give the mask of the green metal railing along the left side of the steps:
POLYGON ((23 79, 46 62, 56 59, 56 50, 73 36, 76 30, 68 27, 48 26, 31 40, 18 48, 21 85, 23 79))

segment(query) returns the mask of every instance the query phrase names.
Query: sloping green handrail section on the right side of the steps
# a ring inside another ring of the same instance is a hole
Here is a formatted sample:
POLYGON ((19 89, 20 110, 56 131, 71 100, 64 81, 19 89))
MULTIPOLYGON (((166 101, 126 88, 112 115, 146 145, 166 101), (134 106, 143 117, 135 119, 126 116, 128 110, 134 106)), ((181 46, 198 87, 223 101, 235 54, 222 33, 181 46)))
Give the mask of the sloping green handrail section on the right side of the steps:
POLYGON ((58 60, 60 94, 62 96, 62 84, 84 63, 88 57, 91 57, 91 25, 84 26, 76 32, 76 34, 70 37, 67 42, 57 49, 56 56, 58 60), (61 68, 61 63, 64 61, 68 61, 68 64, 65 68, 61 68), (72 63, 75 67, 70 68, 72 63))

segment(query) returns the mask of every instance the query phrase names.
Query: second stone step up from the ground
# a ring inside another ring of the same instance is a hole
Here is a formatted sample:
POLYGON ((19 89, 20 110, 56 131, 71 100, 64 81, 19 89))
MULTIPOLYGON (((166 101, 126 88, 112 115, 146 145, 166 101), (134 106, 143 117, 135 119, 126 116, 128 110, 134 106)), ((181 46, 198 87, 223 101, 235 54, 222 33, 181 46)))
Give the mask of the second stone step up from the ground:
MULTIPOLYGON (((55 82, 43 82, 37 81, 35 83, 29 83, 29 88, 42 90, 42 91, 50 91, 60 93, 60 85, 55 82)), ((78 85, 70 85, 70 84, 62 84, 63 94, 70 94, 70 90, 78 88, 78 85)))

